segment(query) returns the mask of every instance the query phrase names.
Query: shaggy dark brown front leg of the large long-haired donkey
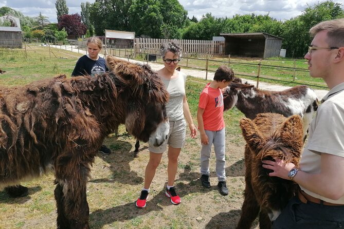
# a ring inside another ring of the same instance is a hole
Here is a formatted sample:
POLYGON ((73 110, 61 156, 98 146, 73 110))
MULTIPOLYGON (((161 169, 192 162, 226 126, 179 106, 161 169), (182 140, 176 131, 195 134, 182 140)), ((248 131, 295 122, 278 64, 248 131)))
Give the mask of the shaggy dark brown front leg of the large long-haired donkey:
POLYGON ((70 163, 59 170, 55 196, 58 205, 58 228, 88 229, 89 208, 86 184, 89 168, 70 163), (59 179, 63 178, 63 179, 59 179), (67 223, 67 225, 66 225, 67 223))

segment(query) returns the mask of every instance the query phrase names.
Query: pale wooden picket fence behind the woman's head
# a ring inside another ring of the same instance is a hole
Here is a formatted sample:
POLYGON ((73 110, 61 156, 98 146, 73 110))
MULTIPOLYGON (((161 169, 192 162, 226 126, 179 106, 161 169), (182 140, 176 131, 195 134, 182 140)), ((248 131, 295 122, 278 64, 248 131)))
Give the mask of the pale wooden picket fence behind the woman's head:
POLYGON ((222 56, 225 51, 224 41, 201 41, 201 40, 171 40, 136 38, 135 52, 146 52, 159 55, 160 46, 164 43, 175 41, 184 53, 210 54, 211 56, 222 56))

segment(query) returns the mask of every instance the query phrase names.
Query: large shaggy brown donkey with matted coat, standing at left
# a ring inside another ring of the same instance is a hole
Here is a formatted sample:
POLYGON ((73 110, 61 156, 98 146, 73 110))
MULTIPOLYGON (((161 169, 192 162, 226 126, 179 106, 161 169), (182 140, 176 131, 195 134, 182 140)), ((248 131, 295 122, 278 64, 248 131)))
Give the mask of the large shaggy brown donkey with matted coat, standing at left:
POLYGON ((157 75, 148 66, 106 61, 112 72, 97 77, 0 88, 0 188, 53 171, 58 228, 89 228, 90 166, 119 124, 155 145, 168 134, 168 92, 157 75))

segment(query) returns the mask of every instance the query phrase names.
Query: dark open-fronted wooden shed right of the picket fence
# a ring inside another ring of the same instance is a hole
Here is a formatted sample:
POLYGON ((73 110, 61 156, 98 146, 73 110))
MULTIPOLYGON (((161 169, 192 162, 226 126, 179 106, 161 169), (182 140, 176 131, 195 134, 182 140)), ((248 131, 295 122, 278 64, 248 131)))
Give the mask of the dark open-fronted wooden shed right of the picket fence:
POLYGON ((270 58, 279 56, 282 38, 268 33, 220 33, 225 37, 225 54, 270 58))

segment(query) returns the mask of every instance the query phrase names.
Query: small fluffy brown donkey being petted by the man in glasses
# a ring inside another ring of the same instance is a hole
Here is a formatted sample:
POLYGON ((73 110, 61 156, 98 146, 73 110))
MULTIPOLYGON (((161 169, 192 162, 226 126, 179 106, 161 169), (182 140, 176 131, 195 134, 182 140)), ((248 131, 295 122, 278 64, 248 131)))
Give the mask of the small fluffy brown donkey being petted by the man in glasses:
POLYGON ((277 113, 261 113, 254 120, 244 118, 240 127, 246 140, 245 200, 237 229, 249 229, 259 214, 261 229, 271 228, 271 221, 280 214, 297 191, 290 180, 269 177, 271 170, 262 167, 262 160, 281 158, 297 167, 303 147, 302 123, 298 115, 289 118, 277 113))

